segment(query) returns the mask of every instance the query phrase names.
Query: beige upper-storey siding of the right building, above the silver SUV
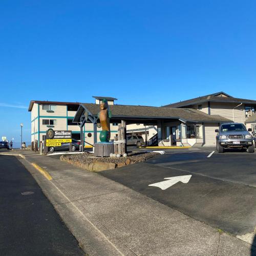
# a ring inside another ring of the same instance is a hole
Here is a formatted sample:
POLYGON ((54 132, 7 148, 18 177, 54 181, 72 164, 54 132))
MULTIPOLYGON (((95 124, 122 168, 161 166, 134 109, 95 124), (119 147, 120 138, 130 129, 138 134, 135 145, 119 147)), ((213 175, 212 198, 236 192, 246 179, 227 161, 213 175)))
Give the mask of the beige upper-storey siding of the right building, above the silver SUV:
MULTIPOLYGON (((233 121, 233 108, 239 103, 210 102, 210 114, 220 115, 233 121)), ((245 122, 245 106, 242 104, 234 109, 234 121, 245 122)))

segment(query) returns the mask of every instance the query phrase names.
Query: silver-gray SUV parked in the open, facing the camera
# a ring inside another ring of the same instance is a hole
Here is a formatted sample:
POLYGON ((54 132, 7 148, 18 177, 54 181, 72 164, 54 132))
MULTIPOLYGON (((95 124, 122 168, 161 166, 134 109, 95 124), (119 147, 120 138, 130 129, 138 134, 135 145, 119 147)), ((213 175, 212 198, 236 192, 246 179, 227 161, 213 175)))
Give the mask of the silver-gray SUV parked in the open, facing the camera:
POLYGON ((246 130, 243 123, 222 123, 218 130, 215 130, 216 146, 219 153, 223 153, 225 148, 246 148, 248 153, 254 152, 253 138, 246 130))

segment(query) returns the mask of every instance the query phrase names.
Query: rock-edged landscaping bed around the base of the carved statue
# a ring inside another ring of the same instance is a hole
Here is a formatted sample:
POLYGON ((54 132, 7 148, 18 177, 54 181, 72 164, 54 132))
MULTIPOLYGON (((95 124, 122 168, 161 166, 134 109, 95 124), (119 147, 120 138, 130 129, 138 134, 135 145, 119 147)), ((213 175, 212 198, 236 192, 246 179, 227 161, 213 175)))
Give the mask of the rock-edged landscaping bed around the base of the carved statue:
POLYGON ((153 152, 131 152, 127 157, 95 157, 91 153, 62 155, 60 160, 66 163, 73 164, 82 169, 90 170, 91 172, 100 172, 101 170, 115 169, 126 165, 144 162, 147 159, 154 157, 153 152))

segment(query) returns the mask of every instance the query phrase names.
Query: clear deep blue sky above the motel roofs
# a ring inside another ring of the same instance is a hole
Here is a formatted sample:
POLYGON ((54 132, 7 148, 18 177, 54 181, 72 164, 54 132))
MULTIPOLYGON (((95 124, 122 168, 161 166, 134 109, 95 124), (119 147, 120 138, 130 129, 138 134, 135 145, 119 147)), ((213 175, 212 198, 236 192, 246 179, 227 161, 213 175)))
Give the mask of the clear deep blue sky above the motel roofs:
POLYGON ((255 1, 1 1, 1 136, 30 140, 30 100, 160 106, 256 99, 255 1))

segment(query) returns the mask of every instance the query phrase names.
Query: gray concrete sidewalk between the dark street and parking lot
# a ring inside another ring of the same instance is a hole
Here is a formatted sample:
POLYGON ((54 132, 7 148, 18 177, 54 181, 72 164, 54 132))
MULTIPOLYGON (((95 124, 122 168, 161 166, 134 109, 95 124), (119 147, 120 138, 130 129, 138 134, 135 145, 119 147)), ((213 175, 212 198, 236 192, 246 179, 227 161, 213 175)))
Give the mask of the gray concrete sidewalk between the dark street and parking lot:
POLYGON ((96 173, 33 152, 22 154, 25 159, 19 160, 89 255, 255 253, 250 244, 96 173), (47 170, 52 180, 31 163, 47 170))

